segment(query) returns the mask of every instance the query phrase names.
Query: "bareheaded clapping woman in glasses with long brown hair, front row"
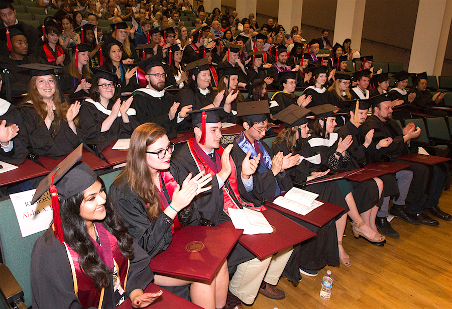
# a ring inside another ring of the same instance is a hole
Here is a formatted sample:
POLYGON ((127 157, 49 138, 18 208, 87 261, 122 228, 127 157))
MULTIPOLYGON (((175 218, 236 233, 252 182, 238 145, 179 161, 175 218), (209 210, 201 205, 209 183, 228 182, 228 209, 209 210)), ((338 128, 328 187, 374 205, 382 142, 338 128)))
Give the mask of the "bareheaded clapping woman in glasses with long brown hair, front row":
MULTIPOLYGON (((127 165, 110 186, 109 194, 117 202, 129 233, 152 258, 166 250, 173 234, 189 222, 193 213, 190 204, 211 175, 188 175, 180 187, 170 168, 174 144, 162 127, 146 123, 132 134, 127 165)), ((226 303, 229 273, 227 262, 220 266, 211 282, 197 282, 170 276, 155 275, 161 286, 191 284, 191 301, 204 308, 222 308, 226 303)))

